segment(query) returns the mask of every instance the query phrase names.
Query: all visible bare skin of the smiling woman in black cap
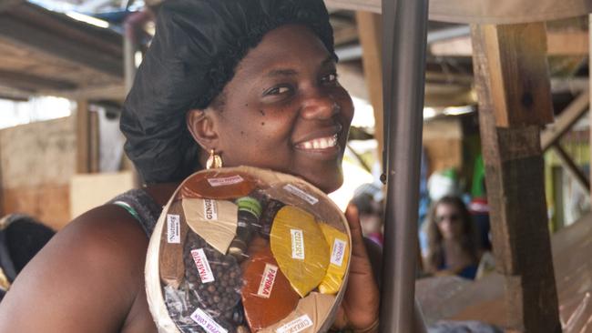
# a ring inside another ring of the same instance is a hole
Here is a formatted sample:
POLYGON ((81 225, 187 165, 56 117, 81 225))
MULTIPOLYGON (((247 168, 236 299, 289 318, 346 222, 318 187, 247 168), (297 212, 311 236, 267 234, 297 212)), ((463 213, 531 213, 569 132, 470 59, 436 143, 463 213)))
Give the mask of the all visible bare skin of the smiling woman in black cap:
MULTIPOLYGON (((325 192, 341 186, 352 101, 308 28, 285 25, 265 35, 241 60, 222 96, 218 107, 188 113, 189 131, 205 151, 215 149, 225 166, 273 168, 325 192), (302 144, 311 140, 322 146, 302 144)), ((177 186, 147 190, 164 206, 177 186)), ((348 208, 346 217, 352 261, 335 327, 368 328, 378 316, 378 288, 357 211, 348 208)), ((138 222, 121 207, 97 207, 77 217, 17 278, 0 304, 0 331, 156 332, 144 290, 147 247, 138 222)))

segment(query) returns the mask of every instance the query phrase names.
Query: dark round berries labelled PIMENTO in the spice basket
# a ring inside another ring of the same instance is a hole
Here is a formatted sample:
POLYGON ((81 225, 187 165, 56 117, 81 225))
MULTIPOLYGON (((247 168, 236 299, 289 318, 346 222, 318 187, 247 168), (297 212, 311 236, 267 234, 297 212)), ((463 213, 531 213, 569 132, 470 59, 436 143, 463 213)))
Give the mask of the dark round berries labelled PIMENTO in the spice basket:
POLYGON ((231 318, 242 286, 237 260, 219 253, 193 232, 188 234, 183 257, 190 303, 212 318, 231 318))

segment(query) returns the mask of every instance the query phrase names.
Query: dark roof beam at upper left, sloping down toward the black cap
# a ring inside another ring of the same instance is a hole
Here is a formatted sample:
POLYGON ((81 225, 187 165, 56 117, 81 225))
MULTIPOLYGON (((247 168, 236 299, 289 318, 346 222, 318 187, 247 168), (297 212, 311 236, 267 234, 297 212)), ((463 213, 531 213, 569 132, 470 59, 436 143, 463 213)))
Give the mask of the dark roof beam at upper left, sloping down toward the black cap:
POLYGON ((19 47, 59 56, 110 76, 123 77, 120 58, 77 45, 11 16, 6 15, 0 19, 0 37, 19 47))

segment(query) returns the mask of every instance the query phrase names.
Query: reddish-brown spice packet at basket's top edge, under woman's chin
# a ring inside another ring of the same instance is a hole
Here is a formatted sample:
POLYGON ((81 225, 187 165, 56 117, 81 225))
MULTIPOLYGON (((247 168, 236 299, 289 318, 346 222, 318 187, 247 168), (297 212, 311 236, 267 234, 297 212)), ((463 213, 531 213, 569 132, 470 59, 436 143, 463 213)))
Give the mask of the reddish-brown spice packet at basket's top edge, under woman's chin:
POLYGON ((247 173, 208 170, 189 176, 181 186, 178 198, 230 200, 245 197, 257 187, 257 180, 247 173))

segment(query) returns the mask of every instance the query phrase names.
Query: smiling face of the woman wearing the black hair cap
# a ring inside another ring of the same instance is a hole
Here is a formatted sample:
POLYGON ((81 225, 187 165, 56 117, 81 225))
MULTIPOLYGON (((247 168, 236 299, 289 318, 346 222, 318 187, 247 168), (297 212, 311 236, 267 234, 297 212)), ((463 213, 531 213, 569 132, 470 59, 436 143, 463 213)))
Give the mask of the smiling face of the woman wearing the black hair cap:
POLYGON ((342 185, 352 99, 309 28, 284 25, 265 35, 240 61, 219 104, 204 113, 215 135, 196 138, 219 152, 224 166, 271 168, 325 192, 342 185))

